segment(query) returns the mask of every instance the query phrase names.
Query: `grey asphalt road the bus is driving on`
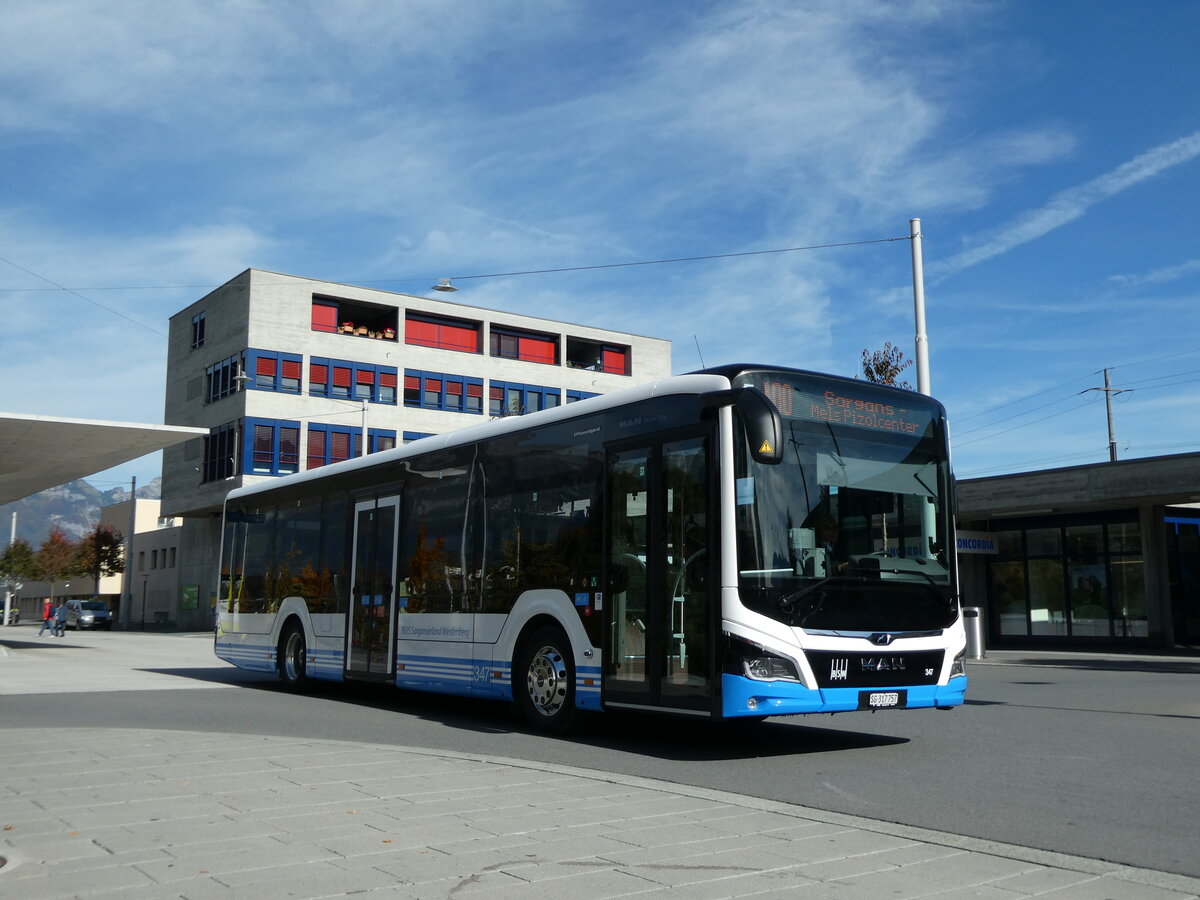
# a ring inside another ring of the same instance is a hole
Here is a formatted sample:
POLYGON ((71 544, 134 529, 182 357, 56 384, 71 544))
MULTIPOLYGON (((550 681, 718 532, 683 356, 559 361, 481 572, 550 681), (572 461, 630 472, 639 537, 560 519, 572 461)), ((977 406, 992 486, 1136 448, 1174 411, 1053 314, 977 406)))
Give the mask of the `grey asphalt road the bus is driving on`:
POLYGON ((541 760, 1200 877, 1200 659, 994 659, 971 667, 968 703, 953 712, 742 727, 602 714, 546 738, 502 704, 347 685, 293 696, 209 661, 204 638, 144 636, 188 652, 131 662, 128 652, 102 653, 109 637, 138 636, 68 635, 28 649, 47 672, 55 658, 82 659, 71 647, 92 652, 90 674, 43 692, 6 684, 0 665, 0 727, 304 734, 541 760), (106 690, 106 665, 157 680, 106 690))

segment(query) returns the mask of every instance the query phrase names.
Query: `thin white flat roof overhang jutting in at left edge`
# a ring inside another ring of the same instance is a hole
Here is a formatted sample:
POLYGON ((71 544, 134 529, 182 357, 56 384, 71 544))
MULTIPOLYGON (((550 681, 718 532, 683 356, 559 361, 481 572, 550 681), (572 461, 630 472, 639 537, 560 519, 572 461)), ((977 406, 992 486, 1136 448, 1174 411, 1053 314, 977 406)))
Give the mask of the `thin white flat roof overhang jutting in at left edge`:
POLYGON ((181 425, 0 413, 0 504, 208 433, 181 425))

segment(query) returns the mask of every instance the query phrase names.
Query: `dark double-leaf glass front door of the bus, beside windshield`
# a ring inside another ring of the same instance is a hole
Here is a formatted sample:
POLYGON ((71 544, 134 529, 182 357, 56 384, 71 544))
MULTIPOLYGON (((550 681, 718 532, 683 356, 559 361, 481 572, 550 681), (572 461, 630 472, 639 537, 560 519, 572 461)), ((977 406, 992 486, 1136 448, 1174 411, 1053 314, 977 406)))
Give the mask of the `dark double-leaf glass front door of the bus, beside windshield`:
POLYGON ((704 434, 608 454, 606 706, 712 712, 712 468, 704 434))

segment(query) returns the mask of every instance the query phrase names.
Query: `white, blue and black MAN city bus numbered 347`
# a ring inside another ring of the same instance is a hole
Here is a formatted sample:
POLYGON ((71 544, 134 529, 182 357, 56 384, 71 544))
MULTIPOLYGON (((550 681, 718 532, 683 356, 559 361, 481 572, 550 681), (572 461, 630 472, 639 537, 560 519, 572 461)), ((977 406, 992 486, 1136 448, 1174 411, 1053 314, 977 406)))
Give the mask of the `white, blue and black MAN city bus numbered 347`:
POLYGON ((930 397, 708 368, 232 491, 216 654, 545 732, 952 708, 953 490, 930 397))

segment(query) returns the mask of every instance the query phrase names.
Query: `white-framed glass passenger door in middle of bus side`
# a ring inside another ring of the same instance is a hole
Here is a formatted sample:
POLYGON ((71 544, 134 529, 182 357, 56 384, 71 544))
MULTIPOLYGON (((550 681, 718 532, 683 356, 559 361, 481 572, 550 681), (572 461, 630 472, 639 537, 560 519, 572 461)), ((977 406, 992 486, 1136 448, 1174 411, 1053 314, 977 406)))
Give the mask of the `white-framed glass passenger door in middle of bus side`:
POLYGON ((346 677, 384 680, 394 672, 396 526, 400 498, 354 505, 354 570, 346 629, 346 677))

